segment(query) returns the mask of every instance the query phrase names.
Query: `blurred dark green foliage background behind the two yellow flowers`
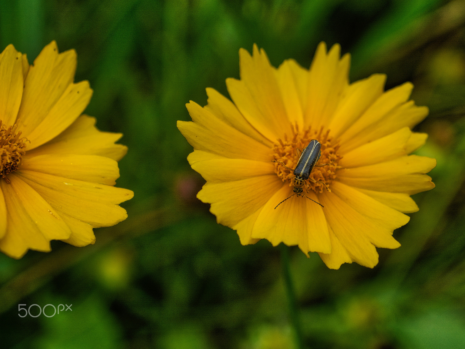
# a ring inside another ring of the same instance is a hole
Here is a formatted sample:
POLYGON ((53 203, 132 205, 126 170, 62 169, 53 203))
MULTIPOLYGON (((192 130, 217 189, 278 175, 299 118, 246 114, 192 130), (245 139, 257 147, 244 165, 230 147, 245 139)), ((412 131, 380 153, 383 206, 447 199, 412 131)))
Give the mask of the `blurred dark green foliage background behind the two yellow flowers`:
POLYGON ((31 63, 51 40, 76 49, 76 81, 94 90, 86 114, 124 133, 117 186, 135 195, 126 221, 94 229, 95 245, 0 254, 0 347, 294 348, 280 249, 241 246, 195 198, 204 181, 176 120, 190 120, 189 100, 206 104, 206 87, 228 95, 240 47, 309 67, 324 40, 352 54, 351 81, 414 83, 412 98, 431 111, 415 129, 430 134, 417 153, 438 166, 436 188, 414 196, 420 211, 394 232, 402 247, 379 249, 375 268, 330 270, 291 249, 304 341, 465 348, 464 39, 464 0, 2 1, 1 48, 13 43, 31 63), (34 303, 73 310, 18 316, 34 303))

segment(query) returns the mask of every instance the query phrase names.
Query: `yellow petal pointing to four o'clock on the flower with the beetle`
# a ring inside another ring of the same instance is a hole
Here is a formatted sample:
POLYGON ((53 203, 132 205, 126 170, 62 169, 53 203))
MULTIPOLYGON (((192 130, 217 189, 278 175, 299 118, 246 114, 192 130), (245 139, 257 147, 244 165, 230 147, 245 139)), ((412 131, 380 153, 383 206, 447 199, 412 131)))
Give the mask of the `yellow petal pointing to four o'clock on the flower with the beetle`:
MULTIPOLYGON (((394 229, 400 228, 407 224, 410 217, 400 213, 399 211, 390 208, 379 201, 376 201, 372 197, 365 195, 364 193, 349 187, 338 181, 333 181, 331 184, 331 190, 334 194, 338 195, 339 198, 347 203, 350 207, 355 209, 357 212, 370 218, 372 224, 378 225, 383 231, 388 231, 392 234, 394 229)), ((392 242, 390 237, 386 241, 385 245, 389 245, 392 242)), ((396 242, 395 245, 398 243, 396 242)), ((377 245, 378 246, 378 245, 377 245)), ((378 246, 383 248, 397 248, 378 246)))

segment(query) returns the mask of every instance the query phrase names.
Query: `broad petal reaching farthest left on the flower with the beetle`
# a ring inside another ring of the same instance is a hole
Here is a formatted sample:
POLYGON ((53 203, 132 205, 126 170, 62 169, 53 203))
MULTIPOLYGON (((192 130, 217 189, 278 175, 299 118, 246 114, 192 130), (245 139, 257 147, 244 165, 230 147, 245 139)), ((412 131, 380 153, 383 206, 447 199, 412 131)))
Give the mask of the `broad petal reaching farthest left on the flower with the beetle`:
POLYGON ((194 149, 232 159, 272 161, 271 149, 259 141, 227 125, 197 103, 191 101, 186 107, 194 122, 178 121, 177 125, 194 149))

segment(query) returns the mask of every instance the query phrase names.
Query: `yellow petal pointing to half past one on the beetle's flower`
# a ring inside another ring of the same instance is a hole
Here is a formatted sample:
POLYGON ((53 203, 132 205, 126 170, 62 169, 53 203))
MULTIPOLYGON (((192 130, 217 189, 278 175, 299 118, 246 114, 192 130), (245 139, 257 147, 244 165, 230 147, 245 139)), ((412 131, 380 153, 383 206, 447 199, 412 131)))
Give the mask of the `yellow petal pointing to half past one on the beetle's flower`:
POLYGON ((383 94, 385 82, 385 74, 373 74, 347 87, 328 126, 333 137, 338 138, 383 94))

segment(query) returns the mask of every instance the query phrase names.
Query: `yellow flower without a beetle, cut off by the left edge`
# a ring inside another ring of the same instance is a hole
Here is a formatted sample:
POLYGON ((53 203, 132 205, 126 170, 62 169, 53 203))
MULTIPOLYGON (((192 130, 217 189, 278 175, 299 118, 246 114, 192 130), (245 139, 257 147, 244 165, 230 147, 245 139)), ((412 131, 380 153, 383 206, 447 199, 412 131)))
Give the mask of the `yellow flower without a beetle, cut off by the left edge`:
POLYGON ((13 45, 0 54, 0 250, 13 258, 50 240, 86 246, 127 217, 118 204, 133 192, 113 187, 127 148, 81 115, 92 89, 75 70, 54 41, 31 66, 13 45))

